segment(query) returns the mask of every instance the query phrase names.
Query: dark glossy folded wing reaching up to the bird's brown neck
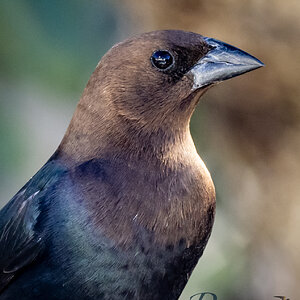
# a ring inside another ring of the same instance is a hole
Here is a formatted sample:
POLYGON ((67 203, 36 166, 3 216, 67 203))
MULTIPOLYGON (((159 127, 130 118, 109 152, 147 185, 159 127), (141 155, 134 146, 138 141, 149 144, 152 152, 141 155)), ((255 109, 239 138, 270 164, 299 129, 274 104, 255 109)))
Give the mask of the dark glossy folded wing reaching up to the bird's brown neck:
POLYGON ((0 293, 43 250, 44 236, 36 225, 56 175, 53 164, 46 164, 0 211, 0 293))

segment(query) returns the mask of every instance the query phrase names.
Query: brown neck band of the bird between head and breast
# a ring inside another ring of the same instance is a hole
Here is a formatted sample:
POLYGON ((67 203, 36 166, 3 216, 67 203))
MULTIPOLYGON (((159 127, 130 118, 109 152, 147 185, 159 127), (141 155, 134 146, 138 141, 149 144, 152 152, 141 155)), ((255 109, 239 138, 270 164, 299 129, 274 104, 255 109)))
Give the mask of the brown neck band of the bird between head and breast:
POLYGON ((116 157, 172 166, 191 154, 197 155, 189 120, 178 128, 139 130, 113 113, 105 104, 99 110, 80 101, 57 150, 59 157, 71 165, 94 158, 116 157))

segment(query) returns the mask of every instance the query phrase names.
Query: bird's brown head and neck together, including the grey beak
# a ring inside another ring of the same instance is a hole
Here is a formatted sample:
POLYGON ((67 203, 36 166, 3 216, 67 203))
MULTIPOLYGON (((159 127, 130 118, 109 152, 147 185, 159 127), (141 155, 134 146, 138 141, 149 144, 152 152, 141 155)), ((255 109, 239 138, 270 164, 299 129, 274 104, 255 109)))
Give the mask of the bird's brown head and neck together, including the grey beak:
POLYGON ((112 151, 162 152, 189 139, 190 117, 209 86, 262 65, 191 32, 128 39, 97 65, 59 152, 77 162, 112 151))

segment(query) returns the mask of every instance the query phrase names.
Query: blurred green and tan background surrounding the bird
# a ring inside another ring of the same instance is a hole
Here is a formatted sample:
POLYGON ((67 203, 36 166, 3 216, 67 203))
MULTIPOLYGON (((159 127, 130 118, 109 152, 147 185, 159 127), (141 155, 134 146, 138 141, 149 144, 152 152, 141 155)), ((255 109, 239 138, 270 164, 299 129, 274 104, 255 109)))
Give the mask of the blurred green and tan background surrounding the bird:
POLYGON ((217 215, 180 299, 299 299, 299 14, 299 0, 1 0, 0 206, 54 152, 114 43, 156 29, 198 32, 266 67, 209 90, 193 116, 217 215))

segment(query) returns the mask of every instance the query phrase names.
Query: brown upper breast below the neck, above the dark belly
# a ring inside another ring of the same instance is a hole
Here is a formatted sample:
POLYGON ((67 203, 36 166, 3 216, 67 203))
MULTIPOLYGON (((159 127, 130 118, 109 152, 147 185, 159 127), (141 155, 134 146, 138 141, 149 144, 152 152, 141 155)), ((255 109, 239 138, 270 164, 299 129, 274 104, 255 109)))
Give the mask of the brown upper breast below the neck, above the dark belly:
POLYGON ((200 158, 178 169, 92 160, 74 173, 95 228, 120 247, 203 243, 210 234, 214 186, 200 158))

